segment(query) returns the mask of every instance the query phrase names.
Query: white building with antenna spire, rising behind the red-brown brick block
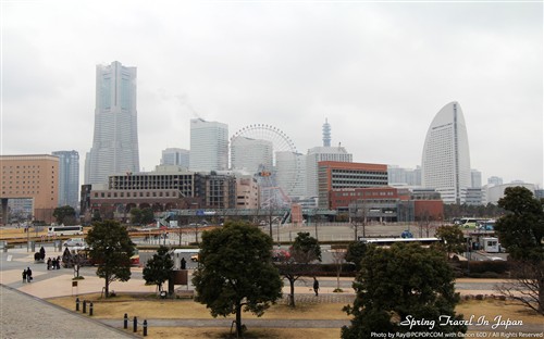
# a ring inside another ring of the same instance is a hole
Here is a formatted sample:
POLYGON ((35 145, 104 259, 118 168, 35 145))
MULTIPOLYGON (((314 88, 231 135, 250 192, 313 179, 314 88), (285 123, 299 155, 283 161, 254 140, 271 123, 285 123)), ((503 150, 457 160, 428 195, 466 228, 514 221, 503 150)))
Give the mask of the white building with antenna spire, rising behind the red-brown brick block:
POLYGON ((306 154, 306 197, 318 197, 318 163, 321 161, 353 162, 353 154, 342 146, 331 147, 331 125, 323 124, 323 146, 308 150, 306 154))

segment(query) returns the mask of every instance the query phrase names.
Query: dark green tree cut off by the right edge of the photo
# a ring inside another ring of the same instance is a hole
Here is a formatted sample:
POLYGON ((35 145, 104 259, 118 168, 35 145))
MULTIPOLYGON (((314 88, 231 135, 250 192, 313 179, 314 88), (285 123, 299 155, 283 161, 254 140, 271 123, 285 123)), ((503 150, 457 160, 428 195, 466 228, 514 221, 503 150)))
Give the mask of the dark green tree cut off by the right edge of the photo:
POLYGON ((544 314, 544 200, 524 187, 508 187, 498 205, 506 214, 497 219, 495 230, 508 250, 516 279, 497 289, 544 314))

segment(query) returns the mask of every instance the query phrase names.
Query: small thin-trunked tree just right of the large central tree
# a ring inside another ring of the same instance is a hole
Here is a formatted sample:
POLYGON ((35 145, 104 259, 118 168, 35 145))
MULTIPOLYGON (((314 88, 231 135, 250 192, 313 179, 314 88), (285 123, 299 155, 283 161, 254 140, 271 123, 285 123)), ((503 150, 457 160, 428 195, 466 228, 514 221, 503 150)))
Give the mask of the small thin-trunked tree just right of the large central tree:
POLYGON ((280 274, 289 281, 289 306, 295 307, 295 281, 312 273, 314 261, 321 261, 321 247, 309 233, 298 233, 288 255, 279 258, 280 274))

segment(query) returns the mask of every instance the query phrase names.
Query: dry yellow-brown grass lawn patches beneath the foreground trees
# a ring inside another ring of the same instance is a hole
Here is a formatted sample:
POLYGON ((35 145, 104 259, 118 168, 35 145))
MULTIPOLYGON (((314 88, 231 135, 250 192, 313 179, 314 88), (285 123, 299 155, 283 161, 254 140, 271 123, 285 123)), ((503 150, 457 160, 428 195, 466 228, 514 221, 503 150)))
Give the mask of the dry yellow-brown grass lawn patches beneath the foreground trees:
MULTIPOLYGON (((101 299, 100 294, 87 294, 79 297, 94 301, 94 317, 104 319, 122 319, 127 313, 129 318, 128 330, 132 332, 131 319, 137 316, 138 319, 189 319, 202 318, 212 319, 209 310, 205 305, 194 302, 190 299, 182 300, 160 300, 154 296, 118 296, 108 300, 101 299)), ((48 300, 51 303, 69 310, 75 310, 75 297, 63 297, 48 300)), ((301 303, 296 309, 290 309, 286 304, 272 305, 261 317, 263 319, 349 319, 342 311, 343 303, 301 303)), ((514 302, 486 299, 483 301, 462 301, 456 309, 457 313, 463 314, 465 318, 474 315, 474 318, 485 316, 493 321, 497 315, 503 318, 523 321, 524 324, 542 324, 544 317, 534 312, 530 312, 514 302)), ((227 317, 234 319, 234 316, 227 317)), ((250 313, 244 313, 242 319, 257 318, 250 313)), ((121 323, 120 323, 121 324, 121 323)), ((120 326, 121 327, 121 326, 120 326)), ((141 335, 141 328, 139 327, 141 335)), ((543 328, 544 330, 544 328, 543 328)), ((245 338, 265 339, 329 339, 339 338, 339 328, 248 328, 245 338)), ((149 338, 231 338, 230 327, 150 327, 149 338)))

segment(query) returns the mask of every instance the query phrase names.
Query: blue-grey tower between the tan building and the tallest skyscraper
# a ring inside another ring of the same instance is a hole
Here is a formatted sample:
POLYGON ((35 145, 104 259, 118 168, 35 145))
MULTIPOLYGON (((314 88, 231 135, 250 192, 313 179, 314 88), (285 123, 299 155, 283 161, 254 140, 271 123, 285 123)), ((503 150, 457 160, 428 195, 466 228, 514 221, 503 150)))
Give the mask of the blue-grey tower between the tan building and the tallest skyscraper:
POLYGON ((59 156, 59 206, 79 210, 79 153, 77 151, 57 151, 59 156))

